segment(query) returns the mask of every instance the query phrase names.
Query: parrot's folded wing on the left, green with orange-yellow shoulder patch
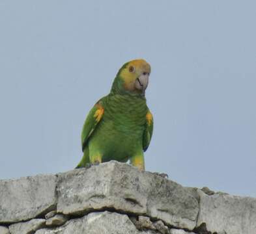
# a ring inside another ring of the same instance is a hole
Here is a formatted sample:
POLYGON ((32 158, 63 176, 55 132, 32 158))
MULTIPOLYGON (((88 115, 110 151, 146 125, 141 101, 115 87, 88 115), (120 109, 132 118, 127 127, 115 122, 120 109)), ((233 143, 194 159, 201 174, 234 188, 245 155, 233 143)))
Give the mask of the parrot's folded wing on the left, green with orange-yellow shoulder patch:
POLYGON ((90 110, 85 123, 83 124, 83 130, 81 134, 82 150, 85 149, 89 137, 92 135, 100 120, 102 120, 103 115, 104 107, 102 106, 101 101, 98 101, 90 110))

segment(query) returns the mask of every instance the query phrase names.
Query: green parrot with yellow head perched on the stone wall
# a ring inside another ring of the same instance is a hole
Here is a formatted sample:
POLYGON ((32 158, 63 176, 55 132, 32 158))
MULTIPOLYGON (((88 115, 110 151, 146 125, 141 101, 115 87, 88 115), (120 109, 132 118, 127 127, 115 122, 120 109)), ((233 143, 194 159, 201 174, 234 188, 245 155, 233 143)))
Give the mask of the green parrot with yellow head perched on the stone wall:
POLYGON ((83 157, 76 168, 111 160, 145 170, 153 118, 145 90, 150 65, 143 59, 126 62, 117 73, 110 93, 90 110, 81 133, 83 157))

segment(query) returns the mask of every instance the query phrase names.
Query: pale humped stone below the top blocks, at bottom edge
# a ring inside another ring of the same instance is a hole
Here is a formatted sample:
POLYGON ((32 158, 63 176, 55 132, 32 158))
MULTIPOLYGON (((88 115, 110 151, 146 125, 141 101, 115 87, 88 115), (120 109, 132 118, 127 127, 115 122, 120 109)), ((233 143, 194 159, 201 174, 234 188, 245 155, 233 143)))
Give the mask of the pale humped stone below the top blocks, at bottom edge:
POLYGON ((126 214, 99 212, 70 220, 54 229, 40 229, 35 234, 149 234, 139 231, 126 214))

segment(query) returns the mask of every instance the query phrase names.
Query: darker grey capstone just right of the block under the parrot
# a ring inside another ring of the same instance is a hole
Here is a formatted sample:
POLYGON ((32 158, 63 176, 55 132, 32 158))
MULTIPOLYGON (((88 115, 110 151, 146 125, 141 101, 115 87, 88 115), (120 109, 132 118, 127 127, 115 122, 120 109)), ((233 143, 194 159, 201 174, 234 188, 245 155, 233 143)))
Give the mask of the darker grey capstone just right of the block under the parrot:
MULTIPOLYGON (((145 174, 149 177, 147 172, 145 174)), ((151 187, 147 198, 147 216, 178 228, 195 227, 199 203, 191 189, 159 176, 155 176, 146 186, 151 187)))

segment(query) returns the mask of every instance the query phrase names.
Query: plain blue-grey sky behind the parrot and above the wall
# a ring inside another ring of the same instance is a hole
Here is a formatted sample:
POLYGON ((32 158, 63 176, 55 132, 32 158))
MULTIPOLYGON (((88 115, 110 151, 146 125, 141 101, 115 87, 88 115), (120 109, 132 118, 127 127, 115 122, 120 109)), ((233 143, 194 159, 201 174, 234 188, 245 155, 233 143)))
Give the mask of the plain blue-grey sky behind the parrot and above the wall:
POLYGON ((0 178, 70 170, 92 105, 152 66, 146 168, 256 196, 255 1, 0 1, 0 178))

